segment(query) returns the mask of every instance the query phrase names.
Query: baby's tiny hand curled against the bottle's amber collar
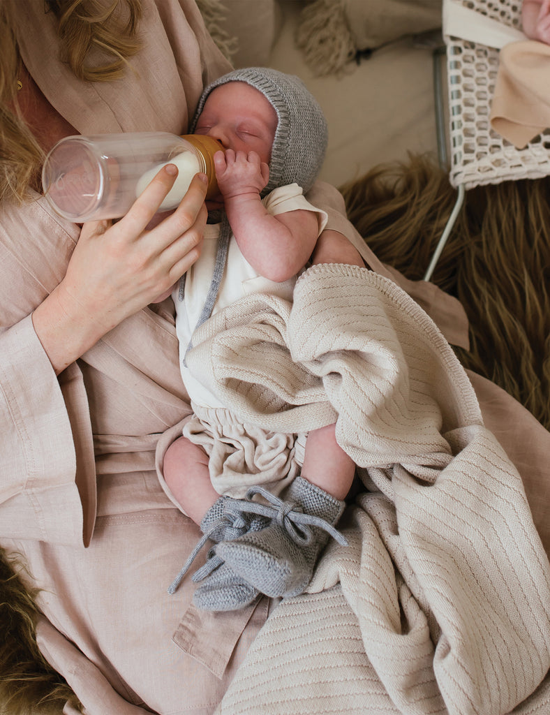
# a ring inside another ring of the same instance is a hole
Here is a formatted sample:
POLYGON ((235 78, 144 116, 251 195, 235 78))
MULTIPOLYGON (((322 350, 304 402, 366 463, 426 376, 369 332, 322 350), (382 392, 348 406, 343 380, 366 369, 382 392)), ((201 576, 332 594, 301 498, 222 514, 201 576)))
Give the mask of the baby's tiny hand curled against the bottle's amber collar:
POLYGON ((259 194, 269 181, 269 166, 256 152, 234 152, 227 149, 214 154, 216 179, 224 199, 242 194, 259 194))

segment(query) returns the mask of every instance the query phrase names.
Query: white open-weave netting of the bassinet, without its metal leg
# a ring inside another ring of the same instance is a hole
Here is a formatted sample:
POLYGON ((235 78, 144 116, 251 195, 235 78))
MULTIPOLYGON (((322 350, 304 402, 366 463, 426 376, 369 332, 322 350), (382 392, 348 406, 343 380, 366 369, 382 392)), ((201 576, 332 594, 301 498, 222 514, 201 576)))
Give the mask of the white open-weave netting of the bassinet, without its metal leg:
MULTIPOLYGON (((502 24, 521 29, 521 0, 449 0, 502 24)), ((550 174, 550 132, 524 149, 491 129, 489 114, 499 50, 445 34, 451 144, 450 182, 471 189, 550 174)))

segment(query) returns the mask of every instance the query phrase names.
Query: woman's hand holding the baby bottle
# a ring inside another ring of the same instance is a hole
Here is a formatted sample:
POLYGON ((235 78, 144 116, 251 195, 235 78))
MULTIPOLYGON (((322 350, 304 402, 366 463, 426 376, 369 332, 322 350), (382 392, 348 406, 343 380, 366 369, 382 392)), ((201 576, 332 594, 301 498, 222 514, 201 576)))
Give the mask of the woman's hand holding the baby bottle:
POLYGON ((179 207, 149 226, 176 175, 174 164, 168 164, 119 222, 82 228, 64 279, 33 314, 56 373, 168 290, 199 257, 206 224, 201 174, 179 207))

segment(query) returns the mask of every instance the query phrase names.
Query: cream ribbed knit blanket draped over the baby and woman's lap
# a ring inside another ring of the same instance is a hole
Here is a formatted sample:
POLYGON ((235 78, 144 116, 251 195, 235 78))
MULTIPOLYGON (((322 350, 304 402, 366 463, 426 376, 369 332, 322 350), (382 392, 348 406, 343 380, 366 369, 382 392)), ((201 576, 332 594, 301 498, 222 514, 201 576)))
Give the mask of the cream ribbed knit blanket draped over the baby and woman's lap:
POLYGON ((434 322, 374 272, 206 322, 191 370, 264 428, 336 420, 365 490, 309 593, 281 601, 220 715, 550 712, 550 566, 521 478, 434 322))

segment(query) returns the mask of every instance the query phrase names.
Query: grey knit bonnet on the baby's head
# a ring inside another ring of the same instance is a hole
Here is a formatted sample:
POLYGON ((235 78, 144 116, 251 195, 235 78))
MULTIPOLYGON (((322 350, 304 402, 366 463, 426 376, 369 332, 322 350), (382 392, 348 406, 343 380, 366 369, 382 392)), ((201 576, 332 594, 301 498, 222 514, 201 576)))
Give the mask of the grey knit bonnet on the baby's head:
POLYGON ((299 77, 268 67, 235 69, 206 87, 199 100, 191 132, 195 129, 206 97, 227 82, 246 82, 258 89, 274 107, 279 120, 271 148, 269 184, 261 195, 294 182, 304 189, 304 193, 307 192, 321 170, 328 131, 321 107, 304 82, 299 77))

